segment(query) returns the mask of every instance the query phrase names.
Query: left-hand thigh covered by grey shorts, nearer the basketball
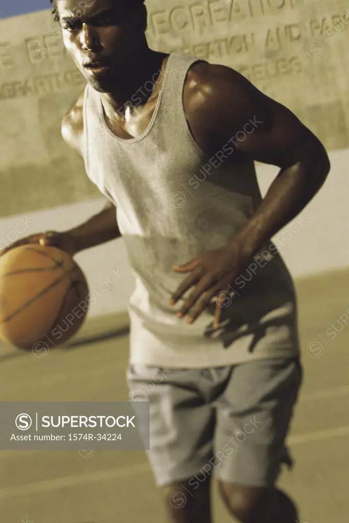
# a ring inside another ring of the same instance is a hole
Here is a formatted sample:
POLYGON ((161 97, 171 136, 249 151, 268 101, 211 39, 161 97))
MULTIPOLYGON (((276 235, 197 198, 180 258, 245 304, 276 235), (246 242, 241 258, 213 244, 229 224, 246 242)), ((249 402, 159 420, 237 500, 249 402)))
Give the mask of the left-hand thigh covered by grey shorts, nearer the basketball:
POLYGON ((130 400, 150 403, 147 454, 158 486, 194 476, 212 457, 215 409, 199 380, 200 369, 128 367, 130 400))

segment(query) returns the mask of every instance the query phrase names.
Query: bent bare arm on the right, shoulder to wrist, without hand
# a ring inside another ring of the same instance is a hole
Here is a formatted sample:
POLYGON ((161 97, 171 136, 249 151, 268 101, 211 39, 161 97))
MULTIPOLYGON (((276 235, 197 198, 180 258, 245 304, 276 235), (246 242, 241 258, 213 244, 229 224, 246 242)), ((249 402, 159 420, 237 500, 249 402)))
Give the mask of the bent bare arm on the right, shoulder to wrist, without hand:
POLYGON ((229 67, 201 66, 193 91, 188 110, 196 128, 232 142, 235 155, 280 168, 261 206, 233 238, 249 259, 317 194, 330 171, 329 158, 290 110, 229 67))

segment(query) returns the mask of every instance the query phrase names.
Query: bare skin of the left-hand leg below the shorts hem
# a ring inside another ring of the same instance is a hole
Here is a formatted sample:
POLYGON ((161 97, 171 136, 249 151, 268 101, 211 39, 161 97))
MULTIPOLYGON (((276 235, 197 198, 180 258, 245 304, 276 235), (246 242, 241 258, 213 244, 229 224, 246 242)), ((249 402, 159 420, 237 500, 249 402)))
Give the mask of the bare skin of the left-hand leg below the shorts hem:
POLYGON ((200 484, 192 495, 189 481, 172 483, 164 487, 165 503, 172 523, 212 523, 210 477, 200 484))

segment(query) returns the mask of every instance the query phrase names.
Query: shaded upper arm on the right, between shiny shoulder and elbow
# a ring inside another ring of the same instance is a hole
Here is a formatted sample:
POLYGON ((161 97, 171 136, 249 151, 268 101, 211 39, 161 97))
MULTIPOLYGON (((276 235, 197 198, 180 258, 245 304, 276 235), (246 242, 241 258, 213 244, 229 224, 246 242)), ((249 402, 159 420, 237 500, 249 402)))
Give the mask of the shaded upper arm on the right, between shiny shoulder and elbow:
POLYGON ((235 149, 281 168, 327 157, 320 140, 297 116, 234 72, 224 86, 218 127, 235 149))

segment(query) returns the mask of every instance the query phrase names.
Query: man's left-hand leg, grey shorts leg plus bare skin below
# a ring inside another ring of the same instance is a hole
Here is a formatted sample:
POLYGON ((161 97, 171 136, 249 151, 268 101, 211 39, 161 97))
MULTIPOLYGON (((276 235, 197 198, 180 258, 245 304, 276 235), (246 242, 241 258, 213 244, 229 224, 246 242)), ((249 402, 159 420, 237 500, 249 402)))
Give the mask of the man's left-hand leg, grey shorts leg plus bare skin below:
MULTIPOLYGON (((165 494, 172 523, 211 523, 209 460, 213 456, 215 409, 206 390, 211 382, 201 369, 129 366, 130 399, 150 403, 150 461, 157 486, 165 494)), ((145 420, 147 422, 147 420, 145 420)), ((149 426, 144 423, 144 435, 149 426)))

